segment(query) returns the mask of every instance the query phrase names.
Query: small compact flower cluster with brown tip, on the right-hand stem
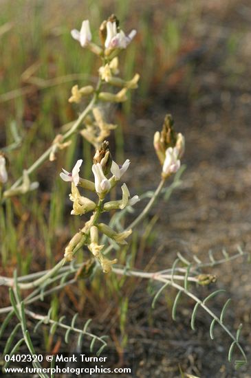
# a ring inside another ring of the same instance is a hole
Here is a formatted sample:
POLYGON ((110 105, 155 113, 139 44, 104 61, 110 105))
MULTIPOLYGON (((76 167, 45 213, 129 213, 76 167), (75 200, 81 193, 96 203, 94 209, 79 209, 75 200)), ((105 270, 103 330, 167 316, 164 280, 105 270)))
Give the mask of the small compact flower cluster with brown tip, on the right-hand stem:
POLYGON ((166 115, 161 133, 156 131, 153 146, 162 164, 162 177, 166 179, 179 170, 185 151, 185 138, 182 133, 175 133, 171 115, 166 115))

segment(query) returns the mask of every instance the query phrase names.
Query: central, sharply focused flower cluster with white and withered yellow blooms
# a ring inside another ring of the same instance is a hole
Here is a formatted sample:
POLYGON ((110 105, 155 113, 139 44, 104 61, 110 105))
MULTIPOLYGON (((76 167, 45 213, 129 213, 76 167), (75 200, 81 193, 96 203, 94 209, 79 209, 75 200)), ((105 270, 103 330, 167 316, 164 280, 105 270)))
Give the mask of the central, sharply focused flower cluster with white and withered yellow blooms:
POLYGON ((130 164, 129 159, 127 159, 122 166, 118 166, 116 162, 113 162, 108 142, 104 142, 100 150, 97 150, 94 155, 94 164, 91 168, 94 174, 94 182, 80 177, 79 172, 82 163, 82 159, 78 160, 72 169, 72 172, 69 173, 67 170, 63 169, 60 176, 64 181, 72 183, 72 192, 69 194, 69 199, 73 202, 73 210, 71 214, 82 215, 87 212, 93 212, 93 214, 89 221, 85 223, 85 227, 75 234, 67 245, 65 249, 65 258, 66 260, 72 260, 74 248, 84 240, 83 244, 88 246, 91 253, 99 261, 102 270, 105 273, 108 273, 111 271, 111 265, 116 263, 117 260, 108 260, 108 258, 102 254, 102 249, 105 245, 100 245, 98 243, 99 232, 105 234, 118 244, 127 244, 125 239, 131 234, 131 230, 116 232, 109 227, 109 225, 98 223, 98 218, 102 212, 109 212, 111 210, 123 209, 129 205, 135 205, 140 199, 137 195, 131 198, 127 185, 122 184, 122 198, 117 201, 105 202, 107 193, 109 193, 111 188, 116 186, 122 175, 124 175, 129 168, 130 164), (80 187, 96 192, 98 195, 98 201, 95 202, 87 197, 83 197, 78 190, 80 187))

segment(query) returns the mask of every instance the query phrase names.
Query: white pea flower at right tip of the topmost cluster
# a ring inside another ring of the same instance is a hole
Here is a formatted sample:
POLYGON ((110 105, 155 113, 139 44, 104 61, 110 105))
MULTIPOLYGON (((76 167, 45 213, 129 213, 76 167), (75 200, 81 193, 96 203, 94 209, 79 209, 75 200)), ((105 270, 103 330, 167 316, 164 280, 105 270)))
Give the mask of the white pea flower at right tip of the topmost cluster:
POLYGON ((108 49, 126 49, 136 35, 136 30, 131 30, 128 36, 122 30, 117 32, 116 22, 107 22, 107 38, 105 47, 108 49))

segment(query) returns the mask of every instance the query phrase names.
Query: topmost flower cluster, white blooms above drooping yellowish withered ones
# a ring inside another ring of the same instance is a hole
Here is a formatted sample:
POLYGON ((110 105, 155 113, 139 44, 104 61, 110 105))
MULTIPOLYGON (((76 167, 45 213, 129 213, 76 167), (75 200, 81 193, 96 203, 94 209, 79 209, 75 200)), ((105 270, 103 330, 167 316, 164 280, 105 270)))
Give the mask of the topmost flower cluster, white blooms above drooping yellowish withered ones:
MULTIPOLYGON (((99 36, 101 45, 96 45, 92 41, 92 34, 88 20, 84 20, 80 30, 72 30, 72 37, 80 43, 82 47, 90 49, 91 52, 97 54, 101 60, 102 65, 98 69, 99 84, 94 89, 91 85, 85 87, 72 87, 72 96, 69 97, 69 102, 79 104, 83 97, 93 95, 96 100, 102 102, 124 102, 127 100, 127 91, 138 88, 139 74, 135 74, 131 80, 124 80, 118 77, 120 73, 118 67, 118 54, 133 40, 136 31, 132 30, 126 35, 120 29, 119 21, 113 14, 102 22, 99 28, 99 36), (119 88, 117 93, 110 91, 103 91, 102 86, 111 85, 119 88)), ((85 118, 85 127, 80 131, 80 134, 90 142, 96 149, 100 148, 102 142, 109 137, 111 130, 116 128, 116 125, 107 124, 103 119, 102 107, 98 104, 94 109, 91 109, 89 115, 85 118)), ((97 167, 97 169, 99 169, 97 167)), ((96 170, 98 174, 99 170, 96 170)))

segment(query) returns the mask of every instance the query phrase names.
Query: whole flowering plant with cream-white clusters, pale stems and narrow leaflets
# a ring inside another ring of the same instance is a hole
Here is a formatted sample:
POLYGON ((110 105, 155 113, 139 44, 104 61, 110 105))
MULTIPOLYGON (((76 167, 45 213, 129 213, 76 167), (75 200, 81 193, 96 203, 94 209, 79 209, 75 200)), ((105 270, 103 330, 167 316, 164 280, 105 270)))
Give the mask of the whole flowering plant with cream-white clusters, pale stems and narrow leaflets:
MULTIPOLYGON (((78 132, 80 137, 84 137, 92 146, 94 146, 93 164, 91 166, 92 173, 94 175, 93 181, 82 177, 81 168, 86 162, 83 159, 78 159, 76 164, 72 168, 72 172, 68 172, 63 168, 63 172, 59 173, 63 181, 67 181, 71 184, 71 191, 69 193, 69 199, 72 201, 71 214, 73 216, 82 216, 83 214, 89 214, 89 219, 83 222, 82 227, 78 230, 65 246, 65 251, 62 254, 61 260, 59 260, 52 269, 47 271, 38 271, 34 274, 28 274, 27 276, 17 277, 17 273, 14 274, 14 278, 1 277, 1 285, 10 287, 10 307, 0 309, 0 313, 8 313, 5 322, 3 322, 0 328, 0 337, 10 319, 15 315, 17 318, 17 327, 11 333, 8 343, 6 344, 6 350, 12 345, 16 329, 21 327, 23 337, 21 341, 14 345, 11 353, 17 351, 22 343, 25 343, 30 353, 34 354, 34 345, 30 337, 28 330, 28 324, 26 322, 26 316, 39 321, 39 325, 42 323, 50 324, 53 329, 56 326, 61 326, 63 329, 67 329, 65 334, 65 340, 69 341, 69 332, 74 331, 79 334, 79 337, 87 335, 91 338, 91 347, 96 340, 100 343, 98 353, 101 353, 103 348, 107 345, 104 337, 98 337, 87 331, 89 323, 85 324, 83 330, 77 329, 74 326, 76 315, 72 320, 71 326, 63 324, 62 320, 54 320, 52 318, 52 310, 50 309, 47 315, 38 315, 33 311, 30 311, 27 307, 30 303, 35 302, 39 298, 44 298, 50 293, 57 292, 66 285, 73 284, 78 279, 89 278, 94 271, 102 269, 104 274, 114 274, 123 276, 137 276, 140 278, 146 278, 155 280, 162 286, 155 293, 153 299, 153 307, 157 298, 159 298, 163 289, 168 285, 174 287, 177 290, 177 296, 173 303, 173 319, 175 319, 177 304, 179 297, 182 293, 195 301, 195 307, 193 309, 191 317, 191 327, 195 329, 195 318, 197 309, 200 306, 206 311, 212 318, 210 326, 210 335, 213 338, 213 331, 215 324, 219 324, 221 328, 228 333, 232 339, 230 346, 229 359, 232 358, 232 350, 234 347, 239 348, 239 352, 243 356, 241 360, 237 360, 237 366, 245 364, 247 361, 245 352, 239 343, 239 334, 241 332, 241 326, 237 330, 237 335, 234 336, 223 322, 223 316, 226 312, 226 307, 229 303, 223 306, 221 315, 218 317, 213 313, 206 304, 206 301, 212 296, 215 296, 221 290, 215 291, 210 294, 206 299, 200 300, 194 293, 188 288, 190 282, 195 282, 197 285, 209 285, 215 283, 216 278, 213 274, 201 273, 201 267, 207 267, 203 263, 188 262, 181 254, 178 255, 177 260, 173 263, 170 269, 165 269, 157 272, 138 271, 133 267, 120 267, 117 263, 120 263, 120 255, 116 253, 116 256, 109 256, 109 253, 113 249, 119 250, 120 245, 127 245, 130 243, 130 235, 135 230, 135 227, 140 225, 143 219, 149 214, 149 210, 153 207, 153 204, 158 197, 162 194, 173 190, 174 186, 166 188, 166 182, 171 177, 176 177, 175 184, 179 181, 179 175, 181 173, 181 159, 184 155, 185 139, 182 133, 176 133, 173 126, 173 118, 171 115, 166 115, 162 131, 157 131, 153 137, 153 146, 155 152, 160 161, 160 183, 157 188, 149 194, 142 195, 142 199, 149 195, 150 199, 143 210, 135 219, 127 225, 122 227, 120 224, 120 230, 116 230, 114 227, 113 219, 116 218, 117 212, 120 216, 124 216, 127 210, 133 210, 137 208, 140 197, 138 194, 131 196, 127 184, 122 183, 119 199, 112 198, 111 193, 114 188, 120 183, 123 175, 129 170, 130 161, 126 159, 120 166, 113 160, 112 153, 109 148, 109 142, 107 138, 113 129, 116 129, 115 124, 110 124, 105 119, 105 115, 102 112, 102 102, 111 102, 116 104, 118 102, 124 102, 127 100, 127 92, 131 89, 138 87, 138 80, 140 76, 135 74, 131 80, 124 80, 119 75, 119 60, 118 56, 123 49, 129 47, 129 44, 136 35, 135 30, 132 30, 128 35, 125 34, 119 25, 119 21, 113 14, 109 19, 102 22, 99 28, 100 43, 96 44, 92 41, 92 34, 89 25, 89 21, 85 20, 82 23, 80 31, 72 30, 72 37, 80 43, 80 47, 89 49, 96 54, 100 59, 100 67, 98 68, 98 80, 96 87, 87 85, 85 87, 78 87, 74 85, 72 87, 72 95, 69 97, 69 102, 81 104, 83 98, 88 98, 89 104, 82 113, 78 116, 78 119, 72 127, 66 131, 65 134, 58 134, 54 138, 50 148, 43 153, 39 159, 32 164, 28 170, 23 171, 23 176, 20 177, 12 186, 8 186, 8 164, 6 164, 6 155, 1 153, 0 155, 0 189, 1 189, 1 203, 4 204, 10 200, 10 197, 14 197, 21 194, 28 194, 31 190, 38 188, 38 182, 31 182, 30 175, 47 159, 53 162, 59 151, 68 148, 71 144, 72 136, 78 132), (108 89, 107 89, 108 87, 108 89), (114 93, 114 87, 119 88, 117 93, 114 93), (176 176, 174 176, 176 174, 176 176), (105 213, 111 214, 111 221, 107 222, 108 216, 105 216, 105 221, 102 221, 102 216, 105 213), (107 224, 108 223, 108 224, 107 224), (86 247, 89 253, 89 258, 78 265, 74 265, 74 258, 77 253, 86 247), (182 267, 178 266, 181 265, 182 267), (180 274, 182 273, 182 274, 180 274), (74 274, 74 277, 71 275, 74 274), (177 281, 184 282, 184 285, 179 285, 177 281), (53 286, 51 289, 45 290, 52 282, 59 282, 58 285, 53 286), (28 296, 24 293, 27 290, 33 290, 28 296)), ((131 167, 130 167, 131 168, 131 167)), ((61 183, 63 185, 63 183, 61 183)), ((82 219, 81 219, 82 221, 82 219)), ((243 254, 241 251, 239 254, 243 254)), ((239 256, 239 255, 238 255, 239 256)), ((234 256, 236 258, 237 256, 234 256)), ((222 263, 222 261, 221 261, 222 263)), ((110 276, 107 276, 109 280, 110 276)), ((81 340, 81 339, 79 339, 81 340)), ((43 375, 45 377, 45 375, 43 375)), ((47 377, 47 376, 46 376, 47 377)))

